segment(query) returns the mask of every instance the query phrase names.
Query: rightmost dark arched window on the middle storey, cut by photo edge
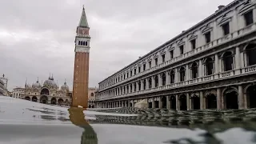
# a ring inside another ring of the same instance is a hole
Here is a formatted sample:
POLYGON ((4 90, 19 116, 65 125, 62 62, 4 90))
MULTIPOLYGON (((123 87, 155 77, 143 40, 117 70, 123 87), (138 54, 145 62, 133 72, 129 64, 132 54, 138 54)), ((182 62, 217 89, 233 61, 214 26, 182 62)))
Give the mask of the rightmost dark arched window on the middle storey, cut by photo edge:
POLYGON ((246 46, 246 56, 247 56, 247 64, 248 66, 252 66, 256 64, 256 44, 251 43, 246 46))

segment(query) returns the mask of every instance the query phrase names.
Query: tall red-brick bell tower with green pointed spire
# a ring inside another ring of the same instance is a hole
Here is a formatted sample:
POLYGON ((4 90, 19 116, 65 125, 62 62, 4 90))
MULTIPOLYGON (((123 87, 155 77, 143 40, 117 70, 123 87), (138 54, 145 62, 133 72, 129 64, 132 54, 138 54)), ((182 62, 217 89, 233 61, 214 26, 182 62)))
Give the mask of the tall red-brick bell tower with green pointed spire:
POLYGON ((87 22, 85 8, 77 27, 75 37, 74 81, 71 106, 88 107, 88 81, 89 81, 89 53, 90 53, 90 27, 87 22))

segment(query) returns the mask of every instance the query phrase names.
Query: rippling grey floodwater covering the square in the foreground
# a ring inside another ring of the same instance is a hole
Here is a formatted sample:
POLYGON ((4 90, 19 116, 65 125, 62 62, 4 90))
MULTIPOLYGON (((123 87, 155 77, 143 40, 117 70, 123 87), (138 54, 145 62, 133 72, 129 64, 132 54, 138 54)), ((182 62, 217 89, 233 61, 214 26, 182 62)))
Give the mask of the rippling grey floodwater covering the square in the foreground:
POLYGON ((0 144, 250 144, 256 110, 82 110, 0 96, 0 144))

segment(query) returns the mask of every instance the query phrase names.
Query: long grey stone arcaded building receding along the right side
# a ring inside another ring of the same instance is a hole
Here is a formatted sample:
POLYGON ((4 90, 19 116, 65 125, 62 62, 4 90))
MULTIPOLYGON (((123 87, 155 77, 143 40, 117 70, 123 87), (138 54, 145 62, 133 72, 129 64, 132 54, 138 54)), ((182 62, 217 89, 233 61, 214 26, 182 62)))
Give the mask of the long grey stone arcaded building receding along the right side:
POLYGON ((96 106, 256 107, 255 0, 236 0, 99 82, 96 106))

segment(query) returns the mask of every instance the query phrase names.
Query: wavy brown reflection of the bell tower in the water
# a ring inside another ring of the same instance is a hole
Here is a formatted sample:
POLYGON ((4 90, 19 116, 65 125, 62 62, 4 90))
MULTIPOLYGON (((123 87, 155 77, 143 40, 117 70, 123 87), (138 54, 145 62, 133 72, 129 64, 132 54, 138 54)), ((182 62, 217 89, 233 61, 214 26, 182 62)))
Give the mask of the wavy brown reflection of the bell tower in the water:
POLYGON ((86 121, 85 115, 83 114, 82 108, 71 107, 68 111, 70 112, 70 121, 75 125, 82 127, 81 144, 98 144, 97 134, 90 124, 86 121))

